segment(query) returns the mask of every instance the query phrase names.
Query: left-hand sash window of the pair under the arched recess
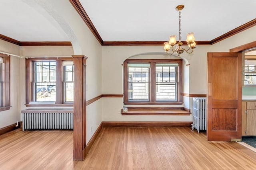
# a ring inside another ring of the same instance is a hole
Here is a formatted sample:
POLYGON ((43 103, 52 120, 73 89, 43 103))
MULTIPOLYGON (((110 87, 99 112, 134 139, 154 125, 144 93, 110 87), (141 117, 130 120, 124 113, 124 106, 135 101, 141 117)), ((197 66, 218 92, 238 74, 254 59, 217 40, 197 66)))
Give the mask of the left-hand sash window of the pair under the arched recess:
POLYGON ((128 101, 149 101, 148 63, 128 63, 128 101))

